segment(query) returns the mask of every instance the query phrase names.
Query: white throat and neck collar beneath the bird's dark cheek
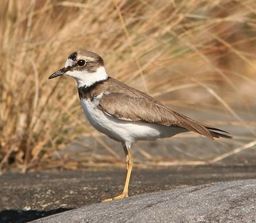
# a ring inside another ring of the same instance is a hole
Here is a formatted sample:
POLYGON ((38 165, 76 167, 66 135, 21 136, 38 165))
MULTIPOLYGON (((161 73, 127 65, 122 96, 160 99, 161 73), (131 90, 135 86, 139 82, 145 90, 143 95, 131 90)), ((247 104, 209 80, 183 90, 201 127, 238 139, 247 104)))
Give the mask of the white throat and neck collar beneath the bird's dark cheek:
POLYGON ((78 82, 78 88, 84 86, 89 87, 95 82, 106 80, 108 78, 108 74, 106 73, 104 66, 98 67, 97 71, 95 72, 68 71, 66 72, 66 75, 76 79, 76 82, 78 82))

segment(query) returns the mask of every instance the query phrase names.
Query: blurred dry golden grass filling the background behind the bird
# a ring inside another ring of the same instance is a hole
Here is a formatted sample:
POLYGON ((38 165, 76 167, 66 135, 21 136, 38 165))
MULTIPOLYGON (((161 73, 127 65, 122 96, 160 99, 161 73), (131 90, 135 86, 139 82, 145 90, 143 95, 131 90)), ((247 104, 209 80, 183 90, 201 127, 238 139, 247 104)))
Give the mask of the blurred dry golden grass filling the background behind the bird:
POLYGON ((255 14, 254 0, 2 0, 0 170, 62 167, 59 151, 79 136, 116 160, 82 114, 75 81, 47 80, 78 49, 183 114, 216 112, 222 121, 209 124, 246 127, 255 146, 255 14))

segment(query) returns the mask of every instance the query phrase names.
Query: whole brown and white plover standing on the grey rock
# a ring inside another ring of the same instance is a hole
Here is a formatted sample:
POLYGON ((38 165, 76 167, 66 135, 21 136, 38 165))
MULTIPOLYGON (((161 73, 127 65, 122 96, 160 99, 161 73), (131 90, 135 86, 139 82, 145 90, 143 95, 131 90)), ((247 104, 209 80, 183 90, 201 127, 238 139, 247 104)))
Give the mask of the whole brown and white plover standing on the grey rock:
POLYGON ((49 79, 62 75, 76 80, 82 109, 90 124, 120 142, 126 155, 124 189, 120 195, 103 201, 128 197, 134 163, 131 146, 136 141, 169 138, 187 131, 210 139, 232 138, 227 131, 190 119, 147 93, 108 76, 104 61, 97 53, 88 50, 71 53, 65 66, 49 79))

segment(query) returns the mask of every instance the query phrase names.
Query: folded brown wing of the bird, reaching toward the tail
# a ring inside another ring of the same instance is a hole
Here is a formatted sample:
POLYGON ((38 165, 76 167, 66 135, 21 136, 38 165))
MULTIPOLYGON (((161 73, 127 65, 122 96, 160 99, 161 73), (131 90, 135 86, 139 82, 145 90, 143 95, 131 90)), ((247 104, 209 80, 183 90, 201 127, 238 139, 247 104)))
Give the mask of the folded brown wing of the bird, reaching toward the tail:
POLYGON ((163 104, 148 95, 143 95, 127 96, 124 93, 103 95, 98 108, 121 120, 135 120, 137 122, 150 122, 159 125, 186 128, 209 138, 225 137, 225 135, 212 131, 222 130, 213 127, 209 127, 212 130, 207 129, 208 126, 166 108, 163 104))

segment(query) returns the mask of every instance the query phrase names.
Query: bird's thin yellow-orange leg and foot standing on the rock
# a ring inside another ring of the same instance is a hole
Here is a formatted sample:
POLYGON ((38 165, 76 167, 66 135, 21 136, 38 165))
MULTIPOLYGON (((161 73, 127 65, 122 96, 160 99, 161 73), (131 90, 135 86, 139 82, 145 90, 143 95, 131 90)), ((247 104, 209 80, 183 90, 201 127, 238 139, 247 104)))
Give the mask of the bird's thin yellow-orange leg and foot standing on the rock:
POLYGON ((103 201, 110 201, 110 200, 117 200, 124 197, 128 197, 128 188, 129 188, 129 182, 130 182, 130 175, 132 174, 132 165, 134 163, 134 160, 132 158, 132 152, 130 152, 130 144, 123 144, 124 153, 126 154, 126 181, 124 182, 124 190, 122 190, 122 193, 116 197, 108 198, 103 201))

